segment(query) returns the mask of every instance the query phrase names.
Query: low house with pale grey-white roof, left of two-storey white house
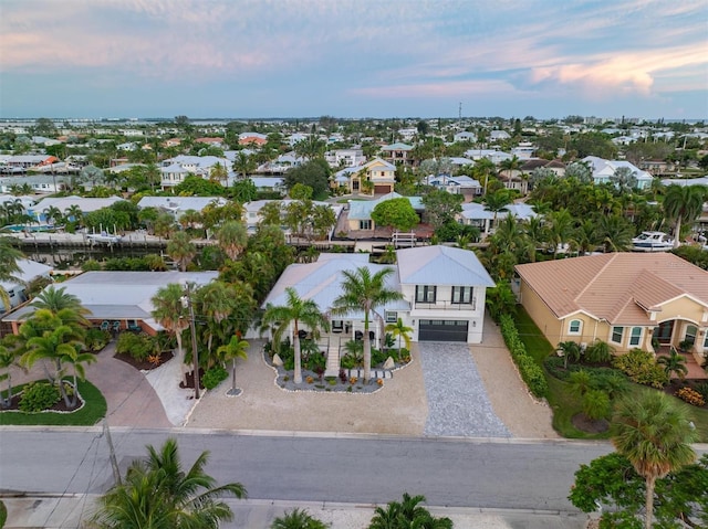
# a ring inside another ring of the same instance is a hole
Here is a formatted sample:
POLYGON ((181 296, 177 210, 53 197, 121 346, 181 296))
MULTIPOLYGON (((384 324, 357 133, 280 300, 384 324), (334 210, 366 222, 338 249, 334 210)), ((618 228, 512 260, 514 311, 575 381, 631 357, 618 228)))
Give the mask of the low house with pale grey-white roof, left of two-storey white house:
MULTIPOLYGON (((218 277, 218 272, 84 272, 61 284, 66 294, 79 298, 91 310, 86 315, 94 326, 110 322, 112 330, 140 329, 150 335, 163 330, 153 318, 152 298, 168 284, 187 281, 198 286, 218 277), (117 325, 115 324, 117 321, 117 325)), ((25 305, 7 316, 2 322, 17 334, 22 320, 34 311, 25 305)))

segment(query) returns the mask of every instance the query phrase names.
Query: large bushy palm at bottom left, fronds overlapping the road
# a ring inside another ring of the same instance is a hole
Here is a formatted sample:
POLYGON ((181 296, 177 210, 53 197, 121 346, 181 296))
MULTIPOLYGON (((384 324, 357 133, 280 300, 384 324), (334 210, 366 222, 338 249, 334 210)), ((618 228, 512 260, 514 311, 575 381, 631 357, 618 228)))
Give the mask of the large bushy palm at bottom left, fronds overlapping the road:
POLYGON ((240 483, 217 486, 205 473, 209 453, 202 452, 188 469, 183 468, 177 442, 163 447, 147 446, 148 459, 136 459, 124 483, 114 485, 98 498, 92 522, 101 529, 217 529, 233 519, 225 496, 246 498, 240 483))

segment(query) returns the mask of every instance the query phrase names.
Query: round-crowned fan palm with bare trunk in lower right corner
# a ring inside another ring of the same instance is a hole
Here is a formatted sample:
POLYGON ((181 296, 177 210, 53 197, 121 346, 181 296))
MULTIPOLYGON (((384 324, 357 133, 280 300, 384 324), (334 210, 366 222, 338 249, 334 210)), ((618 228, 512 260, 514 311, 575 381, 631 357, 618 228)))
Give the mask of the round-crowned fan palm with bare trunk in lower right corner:
POLYGON ((696 440, 685 409, 658 391, 625 400, 613 417, 612 444, 646 482, 645 527, 652 529, 654 485, 696 458, 696 440))

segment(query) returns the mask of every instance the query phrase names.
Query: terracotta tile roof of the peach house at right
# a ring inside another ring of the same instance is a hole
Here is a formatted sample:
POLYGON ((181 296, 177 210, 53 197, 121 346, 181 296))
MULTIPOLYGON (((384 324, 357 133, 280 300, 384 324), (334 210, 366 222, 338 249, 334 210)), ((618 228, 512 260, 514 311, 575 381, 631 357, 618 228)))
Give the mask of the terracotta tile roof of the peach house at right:
POLYGON ((517 273, 559 318, 585 311, 613 324, 643 324, 646 310, 685 295, 708 307, 708 272, 670 253, 529 263, 517 273))

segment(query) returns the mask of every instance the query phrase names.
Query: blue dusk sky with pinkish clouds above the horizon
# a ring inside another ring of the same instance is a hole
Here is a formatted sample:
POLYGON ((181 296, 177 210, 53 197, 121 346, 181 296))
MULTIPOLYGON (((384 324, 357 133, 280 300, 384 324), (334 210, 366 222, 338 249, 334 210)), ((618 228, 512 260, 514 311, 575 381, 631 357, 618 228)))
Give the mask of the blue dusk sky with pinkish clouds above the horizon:
POLYGON ((708 117, 707 0, 0 0, 0 117, 708 117))

